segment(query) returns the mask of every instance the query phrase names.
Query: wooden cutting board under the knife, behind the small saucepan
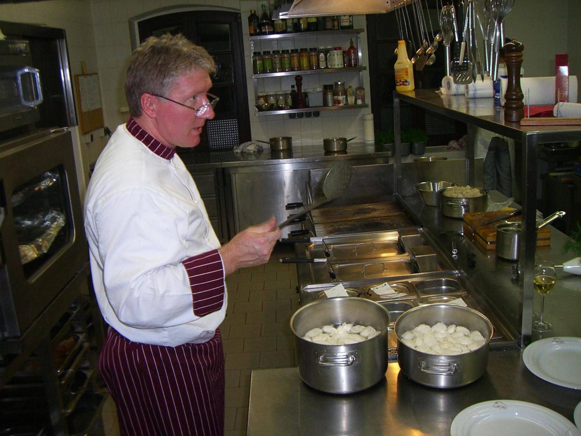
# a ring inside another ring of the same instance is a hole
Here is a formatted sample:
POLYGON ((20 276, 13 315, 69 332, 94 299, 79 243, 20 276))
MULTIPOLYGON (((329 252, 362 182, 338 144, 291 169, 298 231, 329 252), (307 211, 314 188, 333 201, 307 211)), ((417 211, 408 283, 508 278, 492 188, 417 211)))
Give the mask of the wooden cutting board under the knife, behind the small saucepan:
MULTIPOLYGON (((464 235, 472 237, 480 246, 487 250, 496 249, 496 223, 485 224, 484 226, 475 227, 477 224, 492 219, 499 215, 511 212, 510 210, 495 210, 493 212, 474 212, 465 213, 462 217, 464 225, 464 235)), ((506 221, 521 221, 520 216, 514 216, 506 221)), ((551 245, 551 231, 543 227, 537 233, 537 246, 551 245)))

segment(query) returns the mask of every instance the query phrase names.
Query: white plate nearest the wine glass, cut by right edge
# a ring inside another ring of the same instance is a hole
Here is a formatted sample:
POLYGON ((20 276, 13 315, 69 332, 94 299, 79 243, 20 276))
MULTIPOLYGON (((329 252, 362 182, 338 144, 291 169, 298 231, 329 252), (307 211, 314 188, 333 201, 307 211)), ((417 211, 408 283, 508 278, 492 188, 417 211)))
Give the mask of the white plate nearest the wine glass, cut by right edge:
POLYGON ((530 372, 549 383, 581 389, 581 338, 540 339, 525 348, 522 360, 530 372))

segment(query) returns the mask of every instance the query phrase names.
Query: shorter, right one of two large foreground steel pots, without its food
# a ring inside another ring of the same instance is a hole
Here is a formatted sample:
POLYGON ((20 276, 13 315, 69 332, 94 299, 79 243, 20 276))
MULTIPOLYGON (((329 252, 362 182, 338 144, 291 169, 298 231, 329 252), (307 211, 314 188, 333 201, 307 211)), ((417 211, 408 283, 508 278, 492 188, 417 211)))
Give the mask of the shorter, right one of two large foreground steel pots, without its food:
POLYGON ((493 328, 487 317, 474 309, 446 303, 418 306, 401 314, 394 330, 397 336, 397 363, 407 377, 419 384, 432 388, 457 388, 472 383, 486 371, 493 328), (468 353, 440 356, 422 353, 401 342, 401 335, 406 331, 413 330, 419 324, 432 326, 438 322, 478 330, 486 343, 468 353))

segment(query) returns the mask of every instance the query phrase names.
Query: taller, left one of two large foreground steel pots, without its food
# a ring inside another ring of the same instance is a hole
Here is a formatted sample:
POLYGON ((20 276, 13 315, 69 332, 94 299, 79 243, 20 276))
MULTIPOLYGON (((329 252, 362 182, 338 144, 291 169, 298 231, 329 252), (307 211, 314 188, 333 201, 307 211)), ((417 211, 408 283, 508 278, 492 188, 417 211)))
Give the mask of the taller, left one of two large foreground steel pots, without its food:
POLYGON ((290 318, 300 378, 310 387, 331 394, 351 394, 371 387, 388 369, 388 325, 389 312, 363 298, 334 297, 304 305, 290 318), (344 322, 372 326, 380 333, 350 345, 322 345, 303 339, 311 328, 344 322))

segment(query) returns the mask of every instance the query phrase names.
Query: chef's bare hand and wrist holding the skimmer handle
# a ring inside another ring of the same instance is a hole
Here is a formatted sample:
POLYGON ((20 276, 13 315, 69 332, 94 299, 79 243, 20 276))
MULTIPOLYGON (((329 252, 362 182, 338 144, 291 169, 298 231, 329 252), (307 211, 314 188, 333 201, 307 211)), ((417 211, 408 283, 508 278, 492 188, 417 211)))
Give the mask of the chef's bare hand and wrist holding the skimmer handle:
POLYGON ((225 274, 232 274, 239 268, 268 262, 274 244, 281 237, 281 230, 276 225, 277 220, 273 216, 262 224, 242 230, 230 242, 224 244, 218 251, 224 262, 225 274))

